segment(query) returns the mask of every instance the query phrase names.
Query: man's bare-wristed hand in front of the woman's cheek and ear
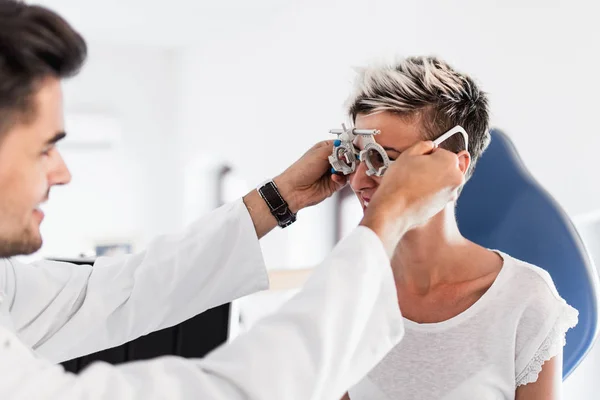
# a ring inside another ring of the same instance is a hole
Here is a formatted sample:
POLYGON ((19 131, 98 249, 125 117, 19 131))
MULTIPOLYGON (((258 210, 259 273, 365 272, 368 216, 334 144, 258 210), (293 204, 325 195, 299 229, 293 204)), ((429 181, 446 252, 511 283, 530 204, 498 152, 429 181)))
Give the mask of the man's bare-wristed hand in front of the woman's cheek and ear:
POLYGON ((361 225, 381 238, 391 256, 407 231, 456 200, 464 180, 456 154, 419 142, 386 171, 361 225))

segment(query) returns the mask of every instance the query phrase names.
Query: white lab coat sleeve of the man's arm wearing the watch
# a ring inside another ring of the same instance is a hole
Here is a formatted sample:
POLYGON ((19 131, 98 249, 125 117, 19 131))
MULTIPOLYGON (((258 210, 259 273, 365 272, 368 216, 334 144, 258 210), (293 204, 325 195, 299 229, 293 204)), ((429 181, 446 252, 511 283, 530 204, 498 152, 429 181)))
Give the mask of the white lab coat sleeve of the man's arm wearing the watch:
POLYGON ((118 346, 249 293, 268 276, 242 200, 134 255, 93 267, 0 263, 0 290, 18 336, 54 362, 118 346))

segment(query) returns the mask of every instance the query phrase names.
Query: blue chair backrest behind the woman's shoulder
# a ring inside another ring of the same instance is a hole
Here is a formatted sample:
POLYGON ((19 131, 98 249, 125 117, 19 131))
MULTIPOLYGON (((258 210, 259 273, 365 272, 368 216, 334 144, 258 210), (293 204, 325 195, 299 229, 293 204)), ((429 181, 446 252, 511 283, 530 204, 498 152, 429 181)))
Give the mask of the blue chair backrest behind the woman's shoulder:
POLYGON ((567 333, 563 378, 590 350, 598 329, 596 270, 562 208, 535 181, 508 136, 492 130, 457 204, 465 237, 546 269, 560 295, 579 311, 567 333))

